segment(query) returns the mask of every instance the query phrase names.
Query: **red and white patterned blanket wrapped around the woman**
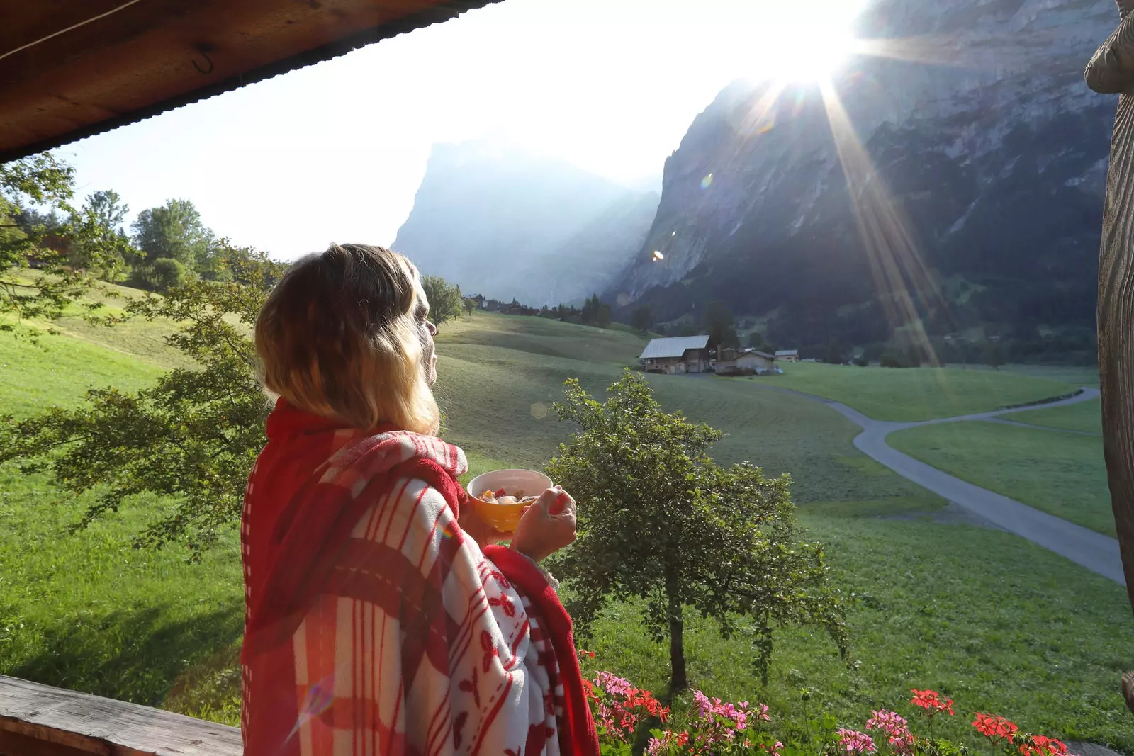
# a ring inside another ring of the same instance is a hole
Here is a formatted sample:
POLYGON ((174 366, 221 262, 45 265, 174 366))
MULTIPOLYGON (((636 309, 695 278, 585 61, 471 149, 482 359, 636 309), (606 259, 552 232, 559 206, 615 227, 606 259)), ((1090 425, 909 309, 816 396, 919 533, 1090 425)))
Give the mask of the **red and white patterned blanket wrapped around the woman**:
POLYGON ((570 619, 457 525, 438 439, 280 400, 242 523, 247 756, 598 754, 570 619))

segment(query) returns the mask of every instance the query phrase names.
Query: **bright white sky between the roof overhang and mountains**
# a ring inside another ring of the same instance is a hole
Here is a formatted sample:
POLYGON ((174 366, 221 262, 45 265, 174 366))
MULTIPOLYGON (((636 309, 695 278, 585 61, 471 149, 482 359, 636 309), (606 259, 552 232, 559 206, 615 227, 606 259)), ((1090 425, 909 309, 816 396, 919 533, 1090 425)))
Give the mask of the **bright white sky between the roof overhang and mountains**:
POLYGON ((58 154, 79 195, 112 188, 130 218, 187 198, 219 236, 280 260, 388 246, 440 142, 503 138, 660 189, 722 87, 801 60, 821 76, 838 60, 809 49, 839 49, 862 2, 505 0, 58 154))

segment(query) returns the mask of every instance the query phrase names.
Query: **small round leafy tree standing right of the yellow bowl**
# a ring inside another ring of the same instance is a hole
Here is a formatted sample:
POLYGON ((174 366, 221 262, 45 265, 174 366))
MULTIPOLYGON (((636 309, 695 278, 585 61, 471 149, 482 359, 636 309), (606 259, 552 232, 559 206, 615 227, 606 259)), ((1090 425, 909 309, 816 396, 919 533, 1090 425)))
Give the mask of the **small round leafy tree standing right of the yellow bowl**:
POLYGON ((600 404, 570 380, 555 405, 581 427, 548 464, 552 479, 587 502, 578 541, 556 564, 572 578, 578 632, 609 602, 642 600, 645 629, 669 638, 674 693, 687 687, 688 609, 726 638, 751 631, 765 679, 773 625, 820 626, 845 653, 841 597, 822 545, 797 541, 788 476, 768 478, 747 462, 719 467, 706 450, 721 433, 663 413, 631 371, 608 394, 600 404))

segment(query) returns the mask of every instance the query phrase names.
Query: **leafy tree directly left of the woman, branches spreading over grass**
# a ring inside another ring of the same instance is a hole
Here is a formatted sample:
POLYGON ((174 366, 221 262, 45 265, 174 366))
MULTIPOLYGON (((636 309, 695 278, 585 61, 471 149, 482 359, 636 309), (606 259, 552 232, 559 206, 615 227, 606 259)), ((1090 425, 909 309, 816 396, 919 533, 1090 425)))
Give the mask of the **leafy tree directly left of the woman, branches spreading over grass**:
POLYGON ((248 334, 284 265, 232 253, 234 281, 192 279, 127 307, 133 317, 181 324, 169 341, 194 368, 171 371, 150 389, 91 390, 78 408, 0 422, 0 461, 19 460, 24 470, 49 472, 60 490, 92 494, 78 528, 142 493, 175 503, 143 526, 135 545, 177 541, 200 553, 239 523, 269 411, 248 334))

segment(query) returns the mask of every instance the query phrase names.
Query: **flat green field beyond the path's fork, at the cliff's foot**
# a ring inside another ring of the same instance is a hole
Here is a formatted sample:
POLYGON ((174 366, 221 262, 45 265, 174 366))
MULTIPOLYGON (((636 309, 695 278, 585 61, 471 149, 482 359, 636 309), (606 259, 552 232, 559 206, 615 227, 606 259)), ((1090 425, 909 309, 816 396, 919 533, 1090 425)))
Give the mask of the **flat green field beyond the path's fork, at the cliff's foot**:
POLYGON ((796 363, 763 379, 785 389, 841 401, 877 421, 957 417, 1060 397, 1077 384, 1007 371, 960 367, 857 367, 796 363))

